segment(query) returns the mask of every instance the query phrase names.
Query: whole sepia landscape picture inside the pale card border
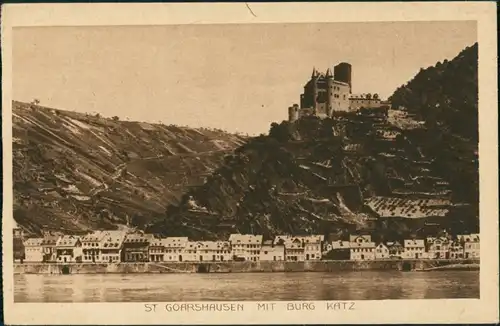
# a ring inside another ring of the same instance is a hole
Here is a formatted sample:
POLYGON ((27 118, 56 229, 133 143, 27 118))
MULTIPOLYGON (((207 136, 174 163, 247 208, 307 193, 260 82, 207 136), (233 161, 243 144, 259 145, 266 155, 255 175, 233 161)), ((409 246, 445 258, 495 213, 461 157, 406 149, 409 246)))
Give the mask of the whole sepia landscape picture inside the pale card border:
POLYGON ((465 19, 13 27, 13 304, 483 298, 498 210, 480 209, 478 35, 465 19))

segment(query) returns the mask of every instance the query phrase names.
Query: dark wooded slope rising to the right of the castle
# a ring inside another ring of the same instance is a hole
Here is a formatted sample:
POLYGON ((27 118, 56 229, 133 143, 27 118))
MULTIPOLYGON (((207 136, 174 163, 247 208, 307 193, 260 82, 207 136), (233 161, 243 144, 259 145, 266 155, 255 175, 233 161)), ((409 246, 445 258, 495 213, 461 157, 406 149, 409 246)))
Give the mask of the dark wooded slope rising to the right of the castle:
POLYGON ((478 44, 451 61, 422 69, 390 100, 425 121, 425 133, 412 135, 439 162, 459 201, 479 203, 478 44), (422 140, 422 137, 426 137, 422 140))

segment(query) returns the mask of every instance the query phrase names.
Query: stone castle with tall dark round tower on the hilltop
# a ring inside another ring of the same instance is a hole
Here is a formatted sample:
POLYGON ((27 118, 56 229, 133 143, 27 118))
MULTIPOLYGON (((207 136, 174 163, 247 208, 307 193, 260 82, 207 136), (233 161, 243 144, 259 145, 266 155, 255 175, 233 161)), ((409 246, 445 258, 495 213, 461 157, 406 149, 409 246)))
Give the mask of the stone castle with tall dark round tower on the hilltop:
POLYGON ((296 121, 304 116, 327 118, 333 112, 357 111, 361 108, 379 108, 390 106, 382 101, 378 94, 352 94, 352 66, 341 62, 326 73, 319 73, 313 68, 311 79, 304 86, 298 104, 288 108, 288 120, 296 121))

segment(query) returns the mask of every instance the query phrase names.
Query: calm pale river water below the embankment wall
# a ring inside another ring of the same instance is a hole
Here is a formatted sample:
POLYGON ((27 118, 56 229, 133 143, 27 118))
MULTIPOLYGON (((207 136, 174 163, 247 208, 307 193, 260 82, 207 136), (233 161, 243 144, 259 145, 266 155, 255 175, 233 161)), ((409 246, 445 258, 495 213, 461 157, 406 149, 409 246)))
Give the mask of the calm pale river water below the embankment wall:
POLYGON ((15 275, 15 302, 479 298, 479 271, 15 275))

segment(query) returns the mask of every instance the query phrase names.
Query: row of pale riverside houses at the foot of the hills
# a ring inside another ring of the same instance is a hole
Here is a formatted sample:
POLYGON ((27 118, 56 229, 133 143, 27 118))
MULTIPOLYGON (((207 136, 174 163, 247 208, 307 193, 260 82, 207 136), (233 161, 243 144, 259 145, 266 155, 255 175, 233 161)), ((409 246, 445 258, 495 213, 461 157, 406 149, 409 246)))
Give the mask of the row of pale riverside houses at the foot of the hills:
POLYGON ((24 241, 26 262, 200 262, 314 261, 378 259, 479 258, 479 235, 408 239, 375 243, 369 235, 348 241, 325 241, 322 235, 276 236, 232 234, 228 241, 191 241, 187 237, 158 238, 126 231, 95 231, 84 236, 45 234, 24 241))

